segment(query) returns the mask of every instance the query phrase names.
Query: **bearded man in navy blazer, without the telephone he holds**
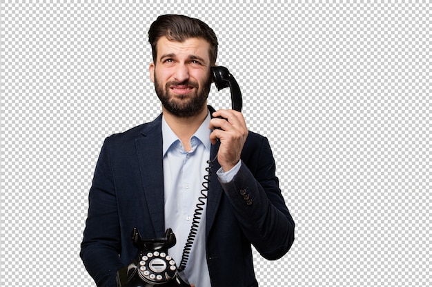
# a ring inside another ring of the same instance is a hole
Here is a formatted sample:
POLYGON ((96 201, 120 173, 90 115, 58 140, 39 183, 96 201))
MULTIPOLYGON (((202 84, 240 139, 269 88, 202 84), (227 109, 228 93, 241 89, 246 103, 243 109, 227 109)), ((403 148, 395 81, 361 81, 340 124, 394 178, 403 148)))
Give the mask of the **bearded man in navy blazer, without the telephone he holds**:
POLYGON ((148 35, 162 114, 106 138, 89 193, 84 265, 98 286, 115 286, 117 270, 137 254, 132 228, 153 238, 170 227, 178 266, 208 184, 184 275, 197 287, 257 286, 251 244, 279 259, 294 240, 268 140, 249 132, 239 111, 209 111, 217 38, 208 25, 164 15, 148 35))

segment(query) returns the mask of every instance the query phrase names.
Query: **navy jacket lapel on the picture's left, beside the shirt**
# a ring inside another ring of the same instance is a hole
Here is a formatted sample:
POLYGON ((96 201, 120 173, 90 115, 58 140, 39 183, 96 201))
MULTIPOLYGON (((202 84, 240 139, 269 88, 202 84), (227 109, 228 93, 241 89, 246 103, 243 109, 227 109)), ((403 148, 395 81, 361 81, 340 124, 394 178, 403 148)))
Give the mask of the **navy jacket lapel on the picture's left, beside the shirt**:
POLYGON ((156 236, 164 235, 164 167, 162 160, 161 116, 141 131, 135 141, 147 208, 156 236))

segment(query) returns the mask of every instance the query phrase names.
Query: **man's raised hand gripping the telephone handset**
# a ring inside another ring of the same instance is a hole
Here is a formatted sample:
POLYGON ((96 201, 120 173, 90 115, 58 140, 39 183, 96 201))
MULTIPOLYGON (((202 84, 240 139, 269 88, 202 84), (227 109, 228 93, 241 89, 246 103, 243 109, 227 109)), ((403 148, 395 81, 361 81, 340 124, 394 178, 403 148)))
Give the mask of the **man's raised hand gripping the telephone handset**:
POLYGON ((248 137, 248 128, 243 114, 233 109, 219 109, 210 120, 209 129, 214 129, 210 134, 213 145, 220 140, 221 145, 217 153, 217 161, 224 172, 229 171, 239 162, 242 149, 248 137), (221 116, 222 118, 217 118, 221 116), (215 129, 219 127, 220 129, 215 129))

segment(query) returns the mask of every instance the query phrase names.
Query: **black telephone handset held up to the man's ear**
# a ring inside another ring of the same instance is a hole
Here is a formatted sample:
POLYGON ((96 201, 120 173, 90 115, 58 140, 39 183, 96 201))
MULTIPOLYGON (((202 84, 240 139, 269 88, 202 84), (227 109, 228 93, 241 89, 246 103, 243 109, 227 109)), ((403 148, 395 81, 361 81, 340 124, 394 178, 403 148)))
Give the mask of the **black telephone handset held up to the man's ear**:
POLYGON ((242 92, 240 92, 239 84, 235 81, 233 75, 223 66, 210 67, 210 70, 217 90, 220 91, 221 89, 229 87, 232 108, 236 111, 242 111, 242 92))

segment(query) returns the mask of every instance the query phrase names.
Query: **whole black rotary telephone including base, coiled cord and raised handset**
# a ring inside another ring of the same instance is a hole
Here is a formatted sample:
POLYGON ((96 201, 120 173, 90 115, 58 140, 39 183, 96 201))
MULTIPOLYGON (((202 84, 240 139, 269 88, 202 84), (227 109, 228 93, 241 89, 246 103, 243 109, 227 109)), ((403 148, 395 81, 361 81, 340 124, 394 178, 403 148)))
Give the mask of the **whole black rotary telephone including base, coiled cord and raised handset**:
MULTIPOLYGON (((233 75, 226 67, 211 67, 211 75, 217 90, 226 87, 230 88, 232 109, 242 110, 242 93, 233 75)), ((183 276, 186 268, 190 249, 193 246, 195 236, 201 220, 201 215, 208 192, 208 182, 210 178, 210 167, 214 160, 208 160, 209 167, 206 169, 208 175, 204 177, 197 209, 193 215, 193 224, 190 228, 186 246, 184 246, 183 256, 180 265, 177 267, 173 258, 168 255, 168 248, 175 245, 175 235, 171 228, 168 228, 165 237, 142 239, 137 228, 132 231, 133 245, 138 249, 138 255, 132 262, 117 271, 117 287, 172 287, 190 286, 188 280, 183 276)))

